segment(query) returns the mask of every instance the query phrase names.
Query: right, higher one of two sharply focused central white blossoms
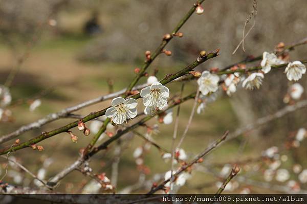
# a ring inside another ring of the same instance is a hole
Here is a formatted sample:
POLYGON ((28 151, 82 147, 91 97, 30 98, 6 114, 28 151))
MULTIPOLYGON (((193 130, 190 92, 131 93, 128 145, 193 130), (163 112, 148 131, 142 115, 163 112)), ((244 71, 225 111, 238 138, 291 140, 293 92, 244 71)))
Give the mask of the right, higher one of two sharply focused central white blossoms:
POLYGON ((169 89, 160 82, 153 82, 141 90, 141 97, 145 105, 145 114, 150 115, 155 109, 162 109, 167 105, 169 89))

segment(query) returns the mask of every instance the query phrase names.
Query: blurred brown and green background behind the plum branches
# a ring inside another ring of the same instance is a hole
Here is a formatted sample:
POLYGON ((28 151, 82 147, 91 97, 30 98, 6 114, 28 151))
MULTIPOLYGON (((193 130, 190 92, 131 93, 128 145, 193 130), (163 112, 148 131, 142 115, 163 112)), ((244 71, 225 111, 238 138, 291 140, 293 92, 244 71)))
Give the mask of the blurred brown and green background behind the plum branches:
MULTIPOLYGON (((16 71, 16 75, 10 83, 12 103, 8 107, 12 116, 9 121, 0 123, 0 134, 14 131, 21 125, 62 108, 107 94, 109 81, 114 83, 115 91, 125 88, 135 76, 135 67, 142 65, 144 52, 156 49, 162 36, 177 25, 193 3, 192 0, 1 0, 0 84, 6 83, 12 70, 16 71), (29 106, 33 103, 33 98, 39 98, 41 105, 30 111, 29 106)), ((166 74, 174 73, 194 61, 201 50, 209 52, 219 48, 221 55, 202 64, 199 70, 223 68, 247 56, 259 56, 264 51, 271 52, 281 41, 288 45, 307 37, 306 1, 259 1, 255 27, 245 39, 246 52, 240 47, 231 55, 242 39, 244 23, 253 10, 252 5, 252 0, 205 1, 204 13, 191 16, 180 30, 184 34, 183 38, 174 38, 166 47, 172 55, 160 55, 150 65, 149 75, 158 69, 157 77, 162 79, 166 74)), ((253 18, 247 24, 246 30, 252 24, 253 18)), ((290 53, 290 60, 302 60, 306 59, 306 56, 307 49, 301 46, 290 53)), ((254 63, 258 64, 259 62, 254 63)), ((259 90, 249 92, 239 89, 232 97, 221 92, 214 103, 207 105, 204 114, 194 117, 182 145, 188 158, 193 158, 204 150, 224 131, 233 132, 288 105, 283 99, 292 83, 284 76, 283 70, 270 72, 265 77, 259 90)), ((146 79, 140 81, 143 82, 146 82, 146 79)), ((306 88, 306 77, 303 76, 299 83, 306 88)), ((178 84, 170 84, 168 87, 171 93, 180 90, 178 84)), ((195 87, 195 81, 187 82, 184 95, 195 90, 195 87)), ((305 93, 301 99, 306 99, 305 93)), ((76 114, 87 115, 91 111, 107 107, 109 103, 110 101, 98 103, 76 114)), ((182 106, 179 137, 188 121, 192 104, 190 101, 182 106)), ((289 149, 289 141, 295 137, 297 130, 307 127, 306 119, 306 109, 300 109, 223 144, 205 157, 204 168, 193 171, 192 177, 179 193, 215 193, 220 184, 218 182, 228 174, 225 174, 227 168, 229 171, 227 164, 250 158, 256 161, 240 166, 242 179, 234 179, 232 188, 226 192, 287 193, 288 190, 282 190, 282 187, 290 185, 287 183, 289 180, 296 182, 300 189, 307 189, 307 185, 298 177, 301 170, 293 170, 295 166, 307 168, 304 159, 307 143, 301 141, 299 147, 289 149), (274 160, 280 161, 280 164, 272 172, 274 178, 270 180, 264 175, 271 162, 265 161, 261 156, 272 146, 279 148, 278 156, 274 160), (283 182, 276 180, 278 169, 287 169, 290 177, 283 182), (270 185, 268 188, 261 186, 266 183, 270 185), (272 186, 276 188, 271 188, 272 186)), ((26 132, 19 139, 24 142, 39 135, 41 131, 49 131, 74 120, 57 120, 40 129, 26 132)), ((159 125, 160 133, 153 134, 152 137, 159 145, 170 150, 173 123, 160 124, 156 119, 152 119, 148 124, 159 125)), ((39 143, 45 148, 42 152, 27 148, 11 155, 34 173, 42 168, 46 160, 50 160, 43 178, 48 179, 75 161, 79 149, 93 137, 93 133, 90 137, 84 137, 76 128, 73 131, 79 136, 78 143, 72 143, 67 133, 61 133, 39 143)), ((146 128, 138 128, 138 131, 145 134, 146 128)), ((106 139, 107 137, 102 141, 106 139)), ((1 146, 12 143, 13 141, 9 141, 1 146)), ((93 172, 105 172, 111 178, 114 149, 121 146, 118 179, 114 184, 117 192, 137 184, 143 178, 157 178, 158 181, 159 175, 161 178, 161 174, 164 176, 170 169, 170 163, 165 163, 161 156, 158 156, 160 152, 151 147, 143 158, 146 171, 140 170, 133 153, 143 145, 144 141, 139 137, 126 135, 121 143, 113 144, 107 151, 98 153, 91 160, 90 166, 93 172)), ((4 158, 1 160, 1 173, 4 175, 6 161, 4 158)), ((35 182, 25 172, 12 166, 8 170, 4 179, 6 182, 35 187, 35 182), (16 179, 16 176, 21 178, 16 179)), ((74 171, 62 180, 57 191, 81 192, 90 180, 74 171)), ((146 188, 136 188, 129 193, 147 192, 151 184, 152 182, 149 182, 146 188)))

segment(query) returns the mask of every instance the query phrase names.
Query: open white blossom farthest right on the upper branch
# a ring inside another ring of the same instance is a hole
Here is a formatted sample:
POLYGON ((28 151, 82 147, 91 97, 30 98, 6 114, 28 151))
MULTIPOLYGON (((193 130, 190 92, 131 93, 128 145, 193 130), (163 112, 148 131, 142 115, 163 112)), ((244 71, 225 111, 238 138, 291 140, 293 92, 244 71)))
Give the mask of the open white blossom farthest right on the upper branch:
POLYGON ((306 73, 306 66, 300 61, 289 62, 284 73, 290 81, 298 81, 306 73))

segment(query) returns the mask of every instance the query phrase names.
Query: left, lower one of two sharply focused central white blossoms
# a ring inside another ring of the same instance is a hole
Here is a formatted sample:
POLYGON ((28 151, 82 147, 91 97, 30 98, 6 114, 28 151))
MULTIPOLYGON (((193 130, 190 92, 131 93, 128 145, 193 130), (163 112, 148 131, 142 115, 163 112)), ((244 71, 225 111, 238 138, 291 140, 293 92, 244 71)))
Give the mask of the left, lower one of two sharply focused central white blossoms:
POLYGON ((114 98, 111 107, 106 110, 105 116, 111 118, 115 124, 123 124, 127 122, 127 119, 133 119, 138 115, 137 105, 135 99, 114 98))

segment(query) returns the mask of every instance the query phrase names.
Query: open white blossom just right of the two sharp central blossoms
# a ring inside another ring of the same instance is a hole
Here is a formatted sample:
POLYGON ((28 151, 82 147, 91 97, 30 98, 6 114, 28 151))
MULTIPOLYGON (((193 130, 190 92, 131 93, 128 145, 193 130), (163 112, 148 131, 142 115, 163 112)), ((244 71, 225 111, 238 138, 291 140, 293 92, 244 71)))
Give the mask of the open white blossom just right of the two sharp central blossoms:
POLYGON ((211 74, 209 71, 204 71, 202 76, 197 80, 202 95, 205 96, 211 92, 216 92, 218 89, 218 81, 220 81, 220 77, 218 77, 216 74, 211 74))

